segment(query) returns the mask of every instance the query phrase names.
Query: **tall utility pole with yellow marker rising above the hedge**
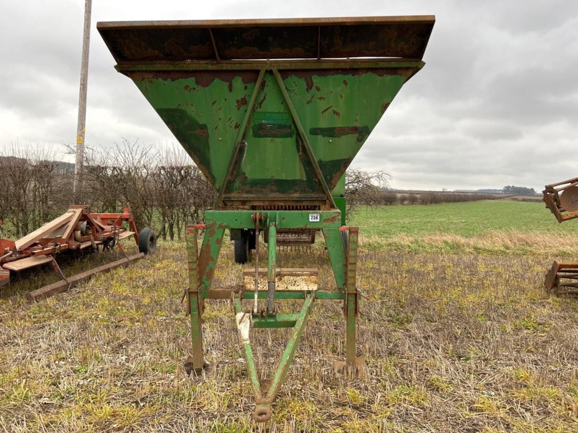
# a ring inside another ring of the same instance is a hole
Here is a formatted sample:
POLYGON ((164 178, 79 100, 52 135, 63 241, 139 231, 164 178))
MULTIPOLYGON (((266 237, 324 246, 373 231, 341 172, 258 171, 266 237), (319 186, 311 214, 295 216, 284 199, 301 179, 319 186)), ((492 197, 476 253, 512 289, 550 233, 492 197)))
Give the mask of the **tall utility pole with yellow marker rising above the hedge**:
POLYGON ((86 122, 86 90, 88 82, 88 48, 90 46, 90 13, 92 0, 84 3, 84 32, 82 40, 82 60, 80 64, 80 93, 78 98, 78 122, 76 126, 76 162, 74 167, 74 196, 79 200, 82 192, 84 162, 84 125, 86 122))

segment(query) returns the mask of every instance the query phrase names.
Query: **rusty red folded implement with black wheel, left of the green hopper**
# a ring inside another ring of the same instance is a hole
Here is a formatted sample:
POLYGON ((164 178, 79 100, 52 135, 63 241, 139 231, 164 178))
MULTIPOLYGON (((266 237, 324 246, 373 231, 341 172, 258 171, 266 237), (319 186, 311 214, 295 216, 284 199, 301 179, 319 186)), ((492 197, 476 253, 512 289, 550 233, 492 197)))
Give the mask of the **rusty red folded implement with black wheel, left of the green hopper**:
POLYGON ((98 272, 142 259, 145 254, 154 252, 156 242, 155 234, 149 227, 137 234, 128 204, 120 214, 94 214, 90 206, 73 205, 58 218, 16 241, 0 239, 0 287, 8 284, 11 278, 22 271, 50 264, 61 280, 26 294, 29 301, 49 297, 65 292, 98 272), (123 223, 127 223, 128 229, 123 223), (131 237, 138 245, 139 253, 128 256, 120 241, 131 237), (81 257, 88 252, 98 249, 106 251, 115 246, 123 252, 124 259, 69 278, 64 276, 55 258, 65 255, 81 257))

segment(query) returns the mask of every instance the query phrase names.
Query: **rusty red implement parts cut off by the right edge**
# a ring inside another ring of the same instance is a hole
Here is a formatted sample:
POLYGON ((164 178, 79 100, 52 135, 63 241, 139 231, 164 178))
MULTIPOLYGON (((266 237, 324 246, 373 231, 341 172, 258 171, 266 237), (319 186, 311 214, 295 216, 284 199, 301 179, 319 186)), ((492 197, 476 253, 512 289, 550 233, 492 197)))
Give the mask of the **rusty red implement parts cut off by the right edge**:
MULTIPOLYGON (((546 185, 542 193, 546 207, 558 222, 578 218, 578 177, 546 185)), ((578 263, 554 260, 544 285, 556 295, 578 295, 578 263)))

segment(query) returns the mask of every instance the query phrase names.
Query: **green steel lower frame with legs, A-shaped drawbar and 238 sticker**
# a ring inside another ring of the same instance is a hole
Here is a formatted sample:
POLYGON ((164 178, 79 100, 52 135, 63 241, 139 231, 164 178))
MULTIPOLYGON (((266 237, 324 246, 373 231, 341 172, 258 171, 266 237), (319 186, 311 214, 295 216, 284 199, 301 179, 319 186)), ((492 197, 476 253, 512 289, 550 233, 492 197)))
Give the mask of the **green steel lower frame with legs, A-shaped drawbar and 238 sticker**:
POLYGON ((342 227, 338 210, 331 211, 250 211, 250 210, 212 210, 206 212, 206 225, 187 226, 187 255, 189 287, 187 312, 190 313, 192 335, 192 369, 203 369, 202 313, 205 299, 231 299, 235 317, 247 361, 247 371, 255 395, 257 407, 253 413, 256 421, 266 421, 271 417, 271 404, 279 391, 293 359, 297 345, 305 329, 307 318, 312 311, 313 302, 321 300, 342 300, 346 318, 346 362, 349 371, 356 367, 355 318, 358 311, 358 293, 355 286, 357 272, 357 227, 342 227), (314 219, 315 221, 311 221, 314 219), (258 299, 265 300, 266 308, 255 311, 243 310, 242 301, 254 298, 255 292, 244 290, 242 286, 234 288, 212 288, 214 268, 223 244, 225 229, 250 229, 256 221, 261 227, 269 228, 268 242, 268 290, 258 291, 258 299), (204 227, 204 236, 198 250, 198 229, 204 227), (333 290, 275 290, 276 269, 276 230, 295 228, 314 228, 323 233, 327 252, 335 275, 336 288, 333 290), (346 251, 342 232, 349 232, 349 248, 346 251), (277 313, 275 301, 280 299, 303 299, 298 314, 277 313), (266 393, 261 389, 253 352, 251 351, 249 329, 292 328, 291 337, 281 356, 279 366, 266 393))

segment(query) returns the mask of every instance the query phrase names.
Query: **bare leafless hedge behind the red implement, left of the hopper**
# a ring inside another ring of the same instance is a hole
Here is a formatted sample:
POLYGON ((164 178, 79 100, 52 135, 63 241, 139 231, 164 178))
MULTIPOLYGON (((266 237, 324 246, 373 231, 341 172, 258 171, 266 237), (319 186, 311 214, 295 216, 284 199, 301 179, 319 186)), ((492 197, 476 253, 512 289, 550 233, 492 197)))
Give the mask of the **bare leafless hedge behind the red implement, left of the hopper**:
POLYGON ((46 147, 13 146, 0 157, 3 236, 20 237, 64 213, 71 204, 118 212, 130 203, 139 229, 181 238, 187 223, 202 221, 216 192, 184 152, 158 151, 124 141, 110 150, 86 150, 83 190, 73 194, 74 165, 46 147), (75 203, 76 202, 76 203, 75 203))

